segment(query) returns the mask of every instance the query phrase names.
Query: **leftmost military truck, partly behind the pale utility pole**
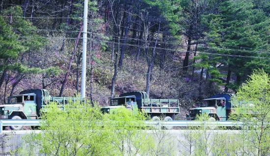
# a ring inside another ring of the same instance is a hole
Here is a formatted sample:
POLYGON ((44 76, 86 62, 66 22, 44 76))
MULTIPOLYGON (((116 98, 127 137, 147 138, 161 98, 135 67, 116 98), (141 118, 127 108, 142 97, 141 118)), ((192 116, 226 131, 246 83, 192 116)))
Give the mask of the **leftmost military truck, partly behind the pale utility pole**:
MULTIPOLYGON (((0 120, 2 119, 38 119, 41 109, 50 103, 56 103, 60 109, 70 101, 84 102, 81 98, 52 97, 45 89, 28 89, 19 95, 8 97, 7 104, 0 105, 0 120)), ((21 126, 11 126, 13 130, 21 129, 21 126)))

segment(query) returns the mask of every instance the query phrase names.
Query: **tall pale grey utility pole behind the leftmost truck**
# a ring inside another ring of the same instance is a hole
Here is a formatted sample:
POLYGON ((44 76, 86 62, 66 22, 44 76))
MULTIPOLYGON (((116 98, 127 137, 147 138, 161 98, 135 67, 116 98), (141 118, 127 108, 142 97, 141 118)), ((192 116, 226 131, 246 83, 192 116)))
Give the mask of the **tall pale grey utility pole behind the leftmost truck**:
POLYGON ((88 15, 88 0, 84 0, 83 36, 82 36, 82 66, 81 66, 81 98, 85 98, 85 89, 86 89, 85 84, 86 84, 87 15, 88 15))

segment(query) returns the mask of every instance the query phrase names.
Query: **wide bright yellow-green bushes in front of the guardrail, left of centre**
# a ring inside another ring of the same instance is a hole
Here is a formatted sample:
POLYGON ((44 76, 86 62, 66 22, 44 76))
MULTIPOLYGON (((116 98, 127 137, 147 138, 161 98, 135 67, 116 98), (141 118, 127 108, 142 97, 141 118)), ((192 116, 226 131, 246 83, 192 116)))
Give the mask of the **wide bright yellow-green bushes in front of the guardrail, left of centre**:
POLYGON ((124 107, 103 115, 100 107, 91 104, 69 103, 64 110, 50 104, 41 118, 42 132, 25 140, 50 156, 134 156, 154 146, 153 138, 143 132, 144 115, 124 107))

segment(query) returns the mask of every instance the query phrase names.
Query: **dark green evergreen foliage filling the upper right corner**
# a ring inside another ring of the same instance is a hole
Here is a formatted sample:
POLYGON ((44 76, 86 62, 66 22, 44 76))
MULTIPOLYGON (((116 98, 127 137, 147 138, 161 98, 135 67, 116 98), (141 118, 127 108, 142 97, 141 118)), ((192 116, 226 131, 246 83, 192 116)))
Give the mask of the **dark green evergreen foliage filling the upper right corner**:
MULTIPOLYGON (((249 58, 222 56, 218 59, 215 56, 209 59, 209 61, 216 59, 227 70, 235 72, 239 78, 245 78, 256 68, 263 68, 269 72, 267 65, 269 60, 254 58, 254 56, 268 57, 265 51, 262 53, 260 51, 269 49, 269 35, 267 34, 270 18, 266 12, 255 5, 256 3, 252 0, 249 2, 228 0, 219 3, 217 14, 204 15, 202 18, 202 23, 208 28, 205 32, 205 40, 209 47, 203 51, 251 56, 249 58)), ((236 89, 239 85, 238 82, 229 86, 236 89)))

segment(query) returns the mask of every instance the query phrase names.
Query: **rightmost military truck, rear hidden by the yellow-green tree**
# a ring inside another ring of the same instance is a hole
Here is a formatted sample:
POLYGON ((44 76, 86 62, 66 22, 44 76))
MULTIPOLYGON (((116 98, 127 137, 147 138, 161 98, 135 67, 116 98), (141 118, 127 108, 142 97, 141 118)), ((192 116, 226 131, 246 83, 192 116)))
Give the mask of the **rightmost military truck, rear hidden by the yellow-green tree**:
POLYGON ((209 99, 204 99, 201 107, 192 108, 187 114, 187 120, 194 120, 196 115, 206 113, 209 120, 226 121, 232 113, 232 104, 230 99, 232 94, 216 94, 209 99))

